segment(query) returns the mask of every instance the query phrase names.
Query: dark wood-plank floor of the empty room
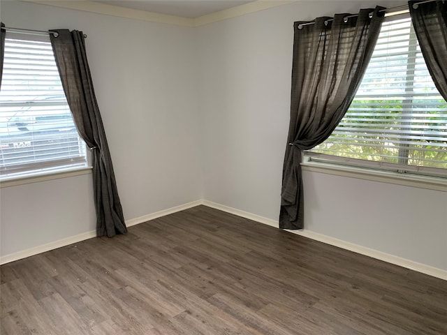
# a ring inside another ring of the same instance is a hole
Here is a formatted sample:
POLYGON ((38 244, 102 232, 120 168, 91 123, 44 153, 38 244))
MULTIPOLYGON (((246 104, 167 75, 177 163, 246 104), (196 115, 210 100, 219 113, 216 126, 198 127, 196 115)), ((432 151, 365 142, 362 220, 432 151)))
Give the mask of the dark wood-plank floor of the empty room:
POLYGON ((1 334, 447 334, 447 281, 199 206, 1 266, 1 334))

